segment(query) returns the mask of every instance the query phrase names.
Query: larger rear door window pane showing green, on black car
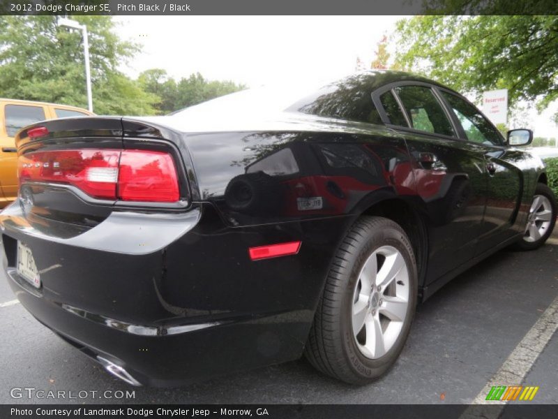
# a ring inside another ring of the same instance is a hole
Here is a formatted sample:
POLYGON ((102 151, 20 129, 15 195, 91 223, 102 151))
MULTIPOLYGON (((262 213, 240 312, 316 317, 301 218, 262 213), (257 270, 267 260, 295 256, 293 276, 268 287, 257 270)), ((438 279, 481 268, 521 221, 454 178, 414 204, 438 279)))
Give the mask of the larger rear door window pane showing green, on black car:
POLYGON ((454 136, 451 122, 429 87, 395 87, 403 107, 411 118, 413 128, 428 133, 454 136))

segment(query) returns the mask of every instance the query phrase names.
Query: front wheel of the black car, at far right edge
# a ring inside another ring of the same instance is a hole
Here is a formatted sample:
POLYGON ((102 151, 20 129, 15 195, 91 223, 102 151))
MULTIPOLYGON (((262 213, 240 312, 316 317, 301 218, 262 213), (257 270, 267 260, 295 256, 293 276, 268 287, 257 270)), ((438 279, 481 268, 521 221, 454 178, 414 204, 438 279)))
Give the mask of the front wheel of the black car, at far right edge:
POLYGON ((537 184, 529 209, 525 235, 516 247, 520 250, 534 250, 541 247, 552 234, 556 216, 557 204, 552 189, 545 184, 537 184))

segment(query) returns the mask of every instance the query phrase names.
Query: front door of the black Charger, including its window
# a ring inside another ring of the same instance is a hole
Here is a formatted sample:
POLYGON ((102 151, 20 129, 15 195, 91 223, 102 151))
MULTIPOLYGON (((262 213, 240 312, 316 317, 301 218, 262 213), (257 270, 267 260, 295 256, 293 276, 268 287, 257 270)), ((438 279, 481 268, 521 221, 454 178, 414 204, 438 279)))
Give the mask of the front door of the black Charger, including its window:
POLYGON ((476 249, 480 254, 517 234, 511 226, 521 202, 522 170, 508 159, 504 138, 481 111, 451 91, 439 92, 458 124, 460 138, 474 145, 486 162, 486 209, 476 249))

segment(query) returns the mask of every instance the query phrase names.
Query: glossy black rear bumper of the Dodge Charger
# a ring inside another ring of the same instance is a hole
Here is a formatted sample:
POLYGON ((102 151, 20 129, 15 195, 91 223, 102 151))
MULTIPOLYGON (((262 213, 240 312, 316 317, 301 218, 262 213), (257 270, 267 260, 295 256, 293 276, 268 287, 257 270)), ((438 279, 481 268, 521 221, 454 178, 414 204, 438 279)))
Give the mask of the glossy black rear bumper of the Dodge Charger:
POLYGON ((324 234, 350 222, 228 229, 199 210, 180 221, 130 214, 128 230, 141 231, 126 237, 123 219, 109 217, 61 238, 20 211, 16 202, 2 212, 0 230, 3 269, 25 309, 105 368, 156 386, 299 358, 333 251, 324 234), (299 240, 301 229, 315 237, 298 255, 248 258, 248 247, 299 240), (18 240, 33 251, 41 288, 17 274, 18 240))

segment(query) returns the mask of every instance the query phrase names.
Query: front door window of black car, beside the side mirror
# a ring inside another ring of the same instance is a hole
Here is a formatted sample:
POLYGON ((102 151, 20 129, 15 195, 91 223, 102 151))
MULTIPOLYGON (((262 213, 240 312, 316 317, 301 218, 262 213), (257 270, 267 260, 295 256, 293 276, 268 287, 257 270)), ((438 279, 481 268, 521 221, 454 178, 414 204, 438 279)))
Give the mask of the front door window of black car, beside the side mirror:
POLYGON ((487 145, 502 145, 502 136, 473 105, 446 91, 442 91, 453 113, 458 117, 467 140, 487 145))

